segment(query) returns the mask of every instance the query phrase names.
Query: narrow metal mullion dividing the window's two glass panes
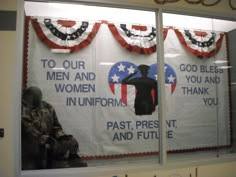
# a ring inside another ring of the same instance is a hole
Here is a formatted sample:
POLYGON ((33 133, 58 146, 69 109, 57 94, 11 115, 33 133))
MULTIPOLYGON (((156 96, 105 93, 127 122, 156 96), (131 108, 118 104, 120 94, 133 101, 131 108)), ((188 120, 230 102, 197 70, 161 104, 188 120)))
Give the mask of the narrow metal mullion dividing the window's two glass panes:
POLYGON ((159 119, 159 162, 165 165, 166 153, 166 94, 165 94, 165 63, 162 10, 156 12, 157 29, 157 64, 158 64, 158 119, 159 119))

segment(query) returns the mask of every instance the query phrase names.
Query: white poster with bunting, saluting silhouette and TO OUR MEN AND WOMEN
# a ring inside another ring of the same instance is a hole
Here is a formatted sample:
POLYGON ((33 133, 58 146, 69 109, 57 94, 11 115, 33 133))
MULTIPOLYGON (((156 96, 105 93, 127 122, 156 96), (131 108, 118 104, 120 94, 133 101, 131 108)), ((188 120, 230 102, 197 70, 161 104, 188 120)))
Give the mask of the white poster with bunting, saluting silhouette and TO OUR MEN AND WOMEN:
MULTIPOLYGON (((84 159, 158 152, 156 27, 32 17, 26 87, 84 159)), ((168 151, 230 145, 226 34, 164 29, 168 151)))

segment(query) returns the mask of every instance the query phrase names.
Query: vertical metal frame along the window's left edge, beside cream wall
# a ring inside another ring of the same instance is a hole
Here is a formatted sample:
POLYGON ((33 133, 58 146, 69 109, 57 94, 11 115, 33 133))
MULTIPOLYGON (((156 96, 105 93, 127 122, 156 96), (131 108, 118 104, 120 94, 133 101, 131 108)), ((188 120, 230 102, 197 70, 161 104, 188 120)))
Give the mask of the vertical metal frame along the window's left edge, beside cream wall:
POLYGON ((13 120, 14 120, 14 176, 21 176, 21 91, 22 91, 22 73, 23 73, 23 51, 24 51, 24 0, 17 0, 17 16, 16 16, 16 63, 15 63, 15 78, 12 83, 12 93, 14 94, 13 105, 13 120))

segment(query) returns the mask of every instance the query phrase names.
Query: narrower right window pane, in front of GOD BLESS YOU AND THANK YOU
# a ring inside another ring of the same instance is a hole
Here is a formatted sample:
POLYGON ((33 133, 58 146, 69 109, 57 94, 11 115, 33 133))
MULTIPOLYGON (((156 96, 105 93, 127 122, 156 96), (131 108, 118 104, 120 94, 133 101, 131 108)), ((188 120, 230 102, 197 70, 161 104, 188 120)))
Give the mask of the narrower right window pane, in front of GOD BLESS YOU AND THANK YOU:
POLYGON ((163 23, 168 159, 229 152, 234 137, 229 34, 236 23, 176 14, 164 14, 163 23))

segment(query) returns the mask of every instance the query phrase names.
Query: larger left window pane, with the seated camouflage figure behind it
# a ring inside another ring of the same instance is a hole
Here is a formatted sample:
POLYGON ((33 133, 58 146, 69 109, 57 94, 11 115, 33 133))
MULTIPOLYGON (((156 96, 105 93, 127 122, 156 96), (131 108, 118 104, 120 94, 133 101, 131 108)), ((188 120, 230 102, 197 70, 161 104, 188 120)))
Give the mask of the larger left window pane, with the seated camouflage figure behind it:
POLYGON ((23 170, 158 162, 155 12, 25 11, 23 170))

